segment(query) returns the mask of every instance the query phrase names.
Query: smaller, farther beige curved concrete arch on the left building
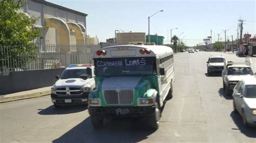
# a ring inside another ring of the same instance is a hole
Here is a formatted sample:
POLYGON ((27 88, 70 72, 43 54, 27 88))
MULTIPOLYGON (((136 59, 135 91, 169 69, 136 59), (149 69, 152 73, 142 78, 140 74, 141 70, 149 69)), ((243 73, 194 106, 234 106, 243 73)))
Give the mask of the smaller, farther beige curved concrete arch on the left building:
POLYGON ((80 26, 76 23, 66 23, 66 24, 69 26, 70 30, 75 31, 77 44, 85 45, 84 34, 82 33, 80 26))

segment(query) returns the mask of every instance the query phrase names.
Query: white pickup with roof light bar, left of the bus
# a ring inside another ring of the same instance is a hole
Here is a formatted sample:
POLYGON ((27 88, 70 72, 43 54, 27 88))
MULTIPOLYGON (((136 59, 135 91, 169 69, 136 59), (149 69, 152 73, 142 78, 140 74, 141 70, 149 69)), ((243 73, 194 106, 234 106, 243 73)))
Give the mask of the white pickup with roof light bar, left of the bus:
POLYGON ((51 87, 51 100, 55 108, 63 105, 87 104, 88 95, 95 88, 95 66, 70 65, 51 87))

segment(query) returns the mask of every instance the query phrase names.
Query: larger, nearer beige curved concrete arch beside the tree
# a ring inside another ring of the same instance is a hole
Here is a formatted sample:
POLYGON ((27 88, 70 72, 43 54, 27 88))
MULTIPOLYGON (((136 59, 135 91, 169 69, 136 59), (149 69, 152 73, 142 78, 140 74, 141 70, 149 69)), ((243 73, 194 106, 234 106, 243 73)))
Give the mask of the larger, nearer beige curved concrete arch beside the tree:
POLYGON ((58 31, 58 44, 70 45, 70 30, 62 19, 57 17, 45 18, 45 27, 56 28, 58 31))

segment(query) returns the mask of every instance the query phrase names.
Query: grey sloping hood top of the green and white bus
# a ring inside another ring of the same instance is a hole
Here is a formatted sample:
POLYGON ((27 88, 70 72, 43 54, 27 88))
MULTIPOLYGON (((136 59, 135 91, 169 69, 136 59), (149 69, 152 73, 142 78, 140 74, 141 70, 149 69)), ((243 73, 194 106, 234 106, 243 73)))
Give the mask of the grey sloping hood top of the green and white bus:
POLYGON ((142 77, 105 77, 102 82, 102 90, 134 90, 142 77))

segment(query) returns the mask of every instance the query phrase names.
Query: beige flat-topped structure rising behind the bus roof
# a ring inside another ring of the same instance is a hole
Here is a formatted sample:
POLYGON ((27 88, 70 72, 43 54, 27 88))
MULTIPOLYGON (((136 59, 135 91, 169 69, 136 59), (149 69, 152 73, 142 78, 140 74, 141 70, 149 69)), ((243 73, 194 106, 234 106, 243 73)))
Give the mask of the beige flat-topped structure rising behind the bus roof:
POLYGON ((124 32, 117 33, 118 44, 128 44, 129 42, 146 42, 145 32, 124 32))

